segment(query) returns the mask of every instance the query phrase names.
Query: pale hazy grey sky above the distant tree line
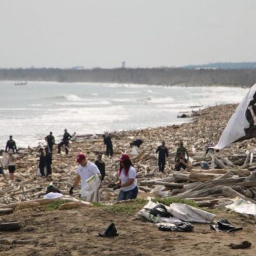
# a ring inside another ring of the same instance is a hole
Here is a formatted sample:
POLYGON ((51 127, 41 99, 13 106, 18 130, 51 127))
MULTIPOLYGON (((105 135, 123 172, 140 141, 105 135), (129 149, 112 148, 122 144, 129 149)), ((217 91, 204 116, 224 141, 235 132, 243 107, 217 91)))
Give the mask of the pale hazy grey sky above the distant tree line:
POLYGON ((256 61, 256 0, 0 0, 0 67, 256 61))

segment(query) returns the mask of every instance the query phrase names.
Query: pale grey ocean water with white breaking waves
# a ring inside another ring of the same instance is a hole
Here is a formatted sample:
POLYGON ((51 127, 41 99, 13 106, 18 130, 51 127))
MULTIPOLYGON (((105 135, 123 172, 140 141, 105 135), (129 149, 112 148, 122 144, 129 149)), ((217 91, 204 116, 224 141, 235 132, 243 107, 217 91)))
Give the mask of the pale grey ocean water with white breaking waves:
POLYGON ((236 103, 248 89, 136 84, 0 82, 0 148, 13 135, 17 147, 38 145, 52 131, 72 134, 181 124, 177 115, 236 103))

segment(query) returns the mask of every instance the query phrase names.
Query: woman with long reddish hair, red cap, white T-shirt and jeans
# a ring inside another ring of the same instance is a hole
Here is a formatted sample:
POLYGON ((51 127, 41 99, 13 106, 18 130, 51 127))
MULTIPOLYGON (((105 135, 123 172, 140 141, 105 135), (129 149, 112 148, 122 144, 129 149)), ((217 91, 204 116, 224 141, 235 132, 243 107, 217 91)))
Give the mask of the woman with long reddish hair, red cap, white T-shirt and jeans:
POLYGON ((127 154, 122 154, 119 159, 119 181, 115 183, 115 189, 121 188, 117 201, 134 199, 138 195, 138 186, 136 182, 136 170, 127 154))

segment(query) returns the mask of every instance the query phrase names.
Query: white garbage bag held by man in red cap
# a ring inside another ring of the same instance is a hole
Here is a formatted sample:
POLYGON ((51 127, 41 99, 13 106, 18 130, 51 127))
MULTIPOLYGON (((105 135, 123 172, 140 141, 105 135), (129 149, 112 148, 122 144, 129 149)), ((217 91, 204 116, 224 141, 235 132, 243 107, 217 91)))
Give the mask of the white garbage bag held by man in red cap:
POLYGON ((86 180, 86 184, 80 190, 81 198, 86 202, 99 202, 99 188, 101 180, 98 175, 93 175, 86 180))

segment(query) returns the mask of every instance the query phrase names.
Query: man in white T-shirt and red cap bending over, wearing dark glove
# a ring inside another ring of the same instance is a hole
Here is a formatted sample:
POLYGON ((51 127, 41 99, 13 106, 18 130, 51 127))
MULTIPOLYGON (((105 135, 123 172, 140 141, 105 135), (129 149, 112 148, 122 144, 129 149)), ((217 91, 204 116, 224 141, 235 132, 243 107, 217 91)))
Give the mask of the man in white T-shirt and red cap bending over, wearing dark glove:
POLYGON ((79 163, 79 167, 77 168, 77 177, 73 184, 73 186, 69 190, 69 194, 73 194, 73 189, 80 183, 81 181, 81 188, 84 187, 86 184, 86 180, 92 177, 93 175, 99 175, 100 177, 100 171, 96 164, 93 164, 92 162, 88 161, 86 159, 86 156, 83 153, 80 153, 76 156, 76 161, 79 163))

